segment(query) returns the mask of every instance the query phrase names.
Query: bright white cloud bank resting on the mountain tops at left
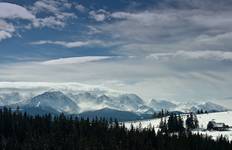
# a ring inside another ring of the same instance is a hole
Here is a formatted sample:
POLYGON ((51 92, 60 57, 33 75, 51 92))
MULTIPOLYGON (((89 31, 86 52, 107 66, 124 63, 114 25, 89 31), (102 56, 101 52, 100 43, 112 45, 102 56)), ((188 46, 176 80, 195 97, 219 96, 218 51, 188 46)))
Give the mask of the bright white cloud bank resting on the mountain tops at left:
POLYGON ((120 93, 102 85, 90 85, 79 82, 0 82, 0 89, 0 92, 3 93, 19 91, 25 98, 54 90, 67 93, 92 91, 97 94, 107 93, 110 95, 118 95, 120 93))

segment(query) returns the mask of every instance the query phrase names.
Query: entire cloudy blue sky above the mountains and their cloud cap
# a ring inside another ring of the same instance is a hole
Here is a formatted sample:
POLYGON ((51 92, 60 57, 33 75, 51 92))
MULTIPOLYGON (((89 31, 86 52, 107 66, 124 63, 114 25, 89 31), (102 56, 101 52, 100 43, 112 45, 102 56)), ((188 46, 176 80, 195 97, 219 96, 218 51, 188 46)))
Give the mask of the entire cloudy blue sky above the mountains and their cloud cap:
POLYGON ((0 81, 231 104, 231 16, 228 0, 0 0, 0 81))

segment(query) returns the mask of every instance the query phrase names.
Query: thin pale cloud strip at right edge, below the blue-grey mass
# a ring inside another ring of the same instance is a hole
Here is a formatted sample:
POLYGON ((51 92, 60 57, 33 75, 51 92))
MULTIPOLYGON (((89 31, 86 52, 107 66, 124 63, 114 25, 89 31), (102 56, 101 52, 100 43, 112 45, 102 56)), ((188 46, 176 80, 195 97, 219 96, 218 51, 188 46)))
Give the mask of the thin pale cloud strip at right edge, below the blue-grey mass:
POLYGON ((230 51, 177 51, 168 53, 154 53, 147 56, 149 59, 170 60, 170 59, 202 59, 216 61, 232 61, 230 51))

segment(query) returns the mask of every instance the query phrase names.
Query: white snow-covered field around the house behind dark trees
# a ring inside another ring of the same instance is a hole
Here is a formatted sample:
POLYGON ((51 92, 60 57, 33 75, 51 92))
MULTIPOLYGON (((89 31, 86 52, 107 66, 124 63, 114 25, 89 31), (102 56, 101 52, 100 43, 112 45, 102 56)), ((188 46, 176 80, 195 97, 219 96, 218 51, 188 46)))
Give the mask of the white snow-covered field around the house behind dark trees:
MULTIPOLYGON (((183 116, 183 119, 185 120, 185 116, 183 116)), ((209 113, 209 114, 200 114, 197 115, 199 126, 201 129, 206 129, 207 124, 211 120, 215 120, 216 122, 225 123, 226 125, 232 126, 232 111, 228 112, 218 112, 218 113, 209 113)), ((149 128, 154 127, 156 130, 158 130, 158 126, 161 119, 151 119, 151 120, 142 120, 142 121, 132 121, 132 122, 125 122, 126 128, 130 128, 131 124, 135 128, 149 128)), ((232 141, 232 129, 230 131, 193 131, 193 133, 201 133, 201 134, 207 134, 208 136, 212 136, 212 138, 216 139, 218 136, 226 136, 229 140, 232 141)))

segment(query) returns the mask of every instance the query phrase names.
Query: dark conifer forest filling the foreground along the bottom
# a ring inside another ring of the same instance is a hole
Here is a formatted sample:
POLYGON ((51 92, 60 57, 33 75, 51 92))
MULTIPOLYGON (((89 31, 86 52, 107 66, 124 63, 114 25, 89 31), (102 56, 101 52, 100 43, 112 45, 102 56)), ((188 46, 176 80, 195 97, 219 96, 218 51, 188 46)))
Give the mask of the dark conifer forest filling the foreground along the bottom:
POLYGON ((84 120, 51 115, 30 116, 0 110, 1 150, 231 150, 221 137, 166 134, 149 129, 126 129, 117 121, 84 120))

